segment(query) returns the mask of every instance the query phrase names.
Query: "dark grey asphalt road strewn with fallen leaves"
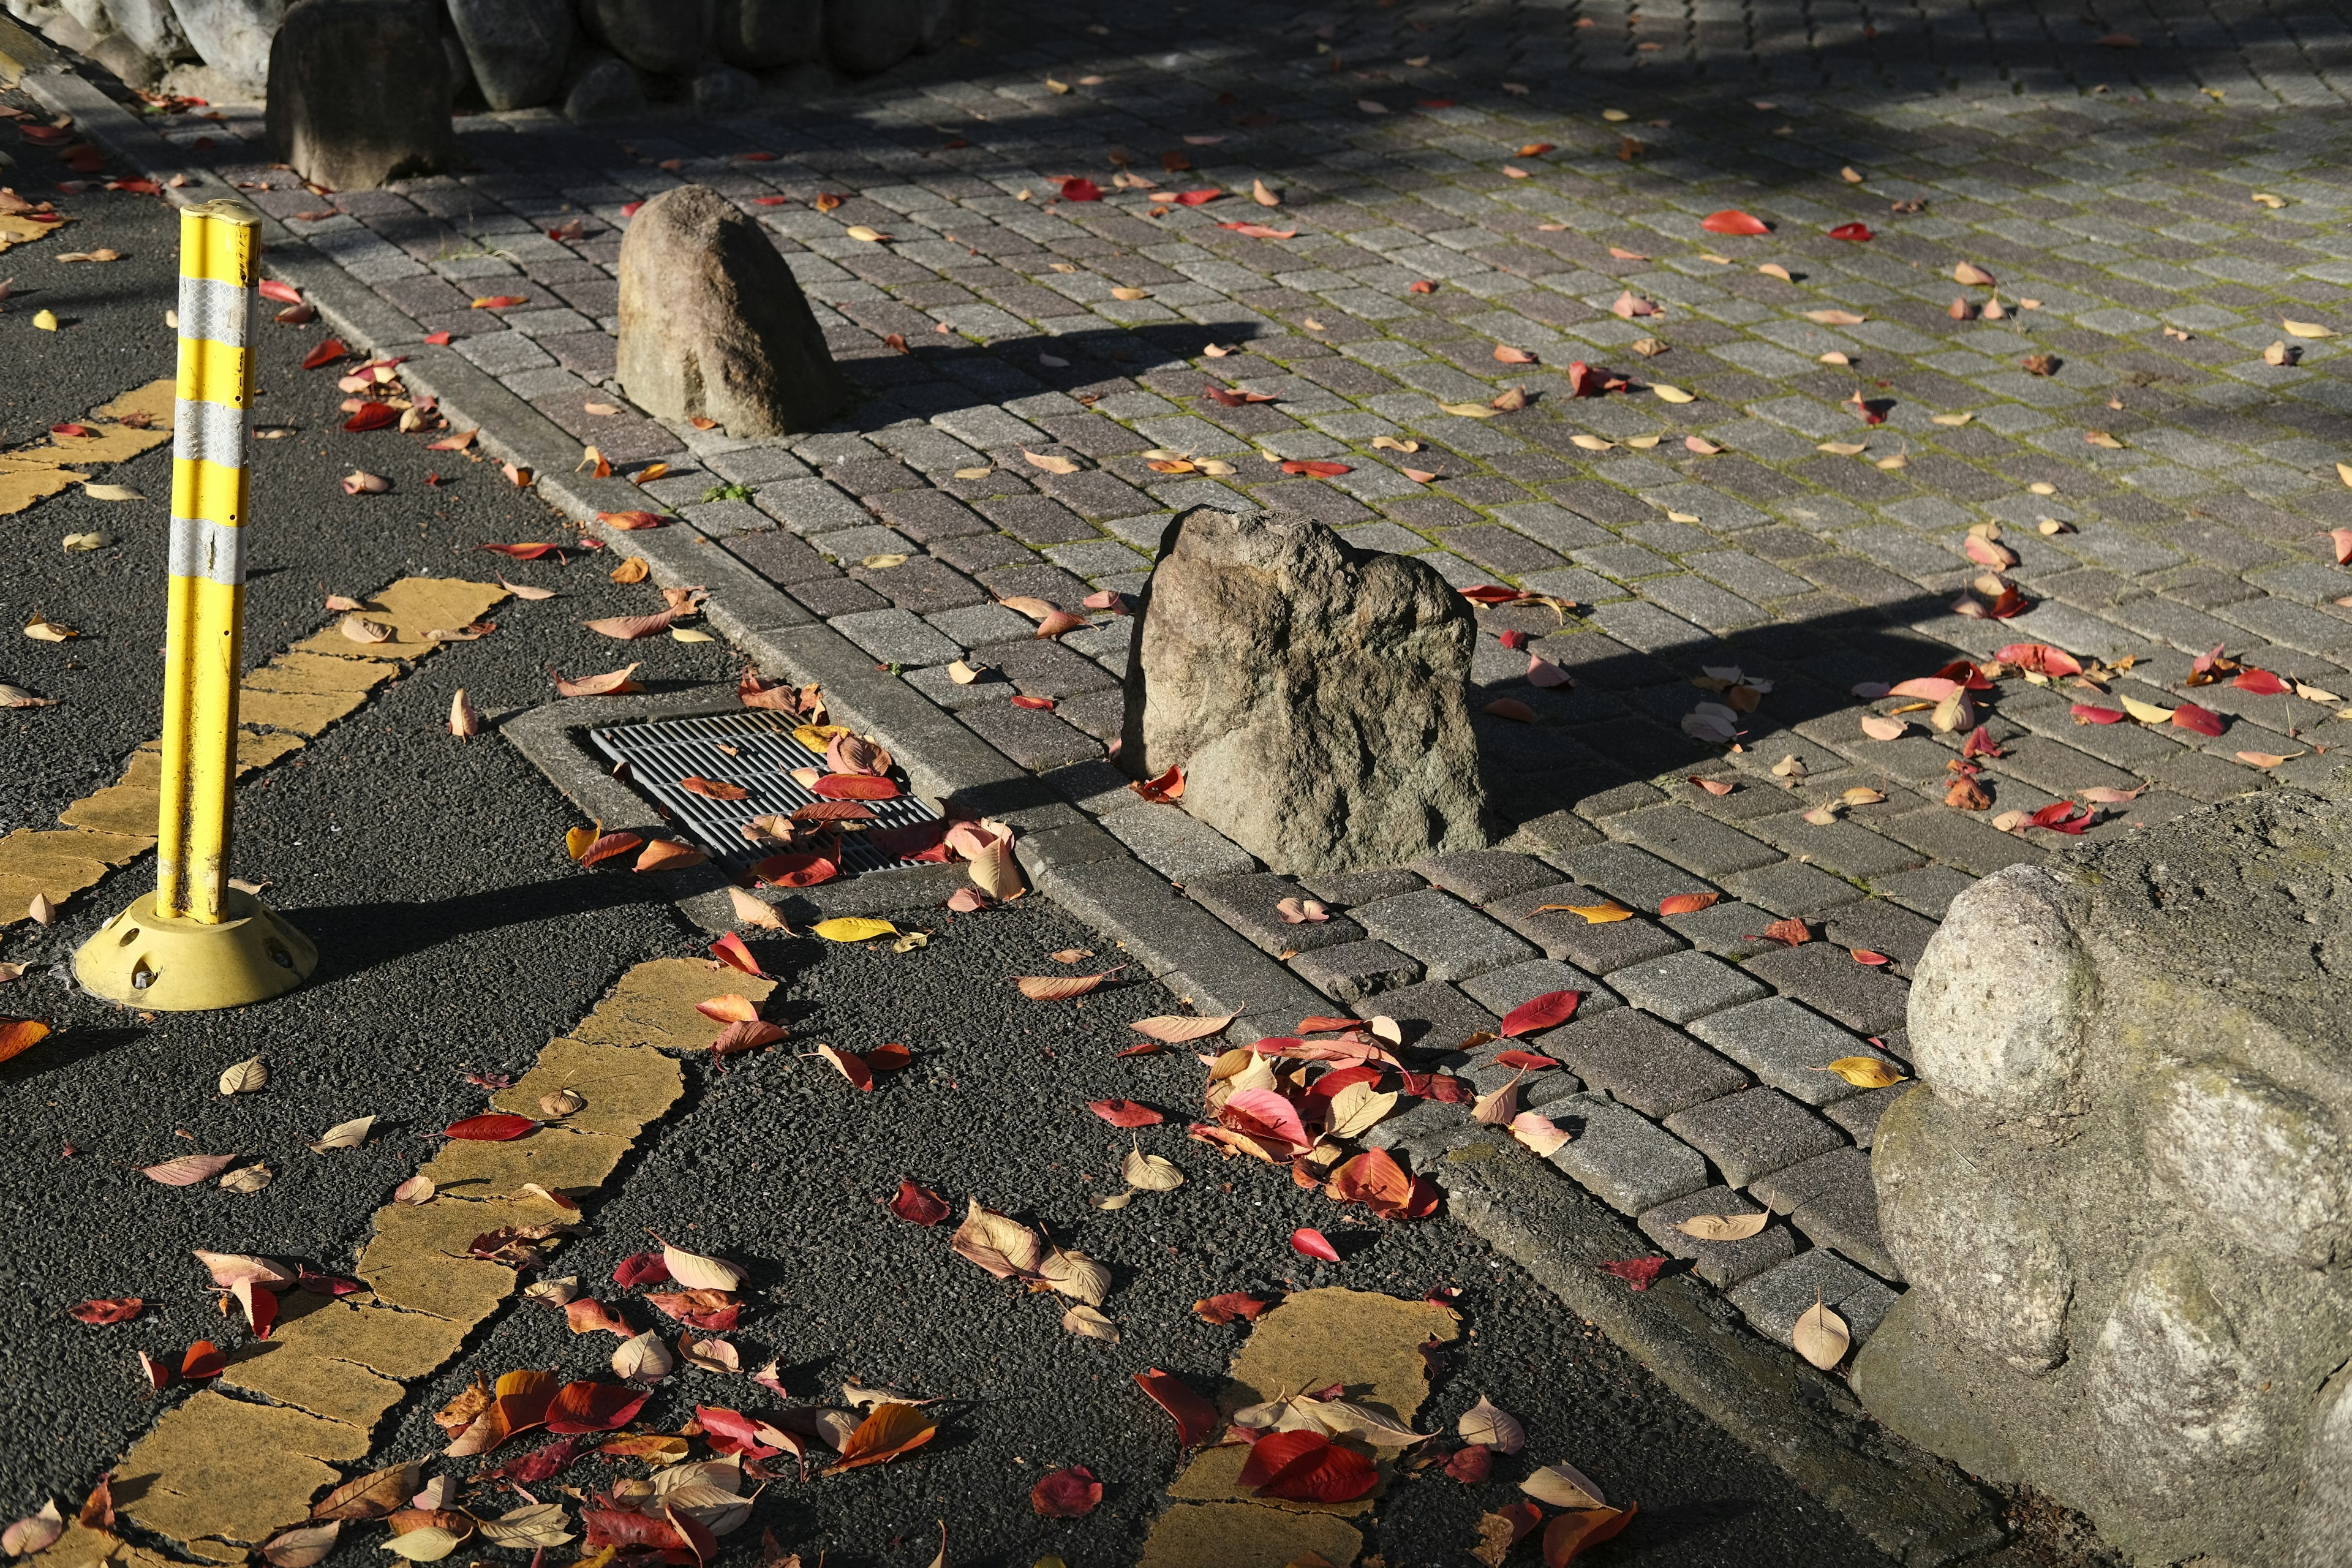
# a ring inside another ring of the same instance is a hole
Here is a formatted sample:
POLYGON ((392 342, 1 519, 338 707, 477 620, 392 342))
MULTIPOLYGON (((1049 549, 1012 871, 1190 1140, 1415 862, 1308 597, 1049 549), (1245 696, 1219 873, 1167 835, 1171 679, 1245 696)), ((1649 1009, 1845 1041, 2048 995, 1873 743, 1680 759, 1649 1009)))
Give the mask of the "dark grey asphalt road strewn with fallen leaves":
MULTIPOLYGON (((42 186, 42 153, 19 148, 19 188, 42 186)), ((85 193, 71 244, 125 254, 61 266, 54 240, 0 259, 16 294, 0 313, 0 437, 26 444, 49 423, 172 371, 176 266, 172 212, 155 197, 85 193), (28 317, 52 308, 59 334, 28 317)), ((270 882, 268 900, 308 931, 315 980, 278 1001, 219 1016, 143 1016, 66 985, 73 947, 143 889, 151 860, 75 898, 52 931, 0 938, 0 959, 35 969, 0 987, 0 1009, 47 1018, 56 1034, 0 1067, 0 1519, 59 1497, 68 1512, 99 1474, 181 1394, 155 1396, 136 1349, 176 1356, 198 1338, 238 1335, 212 1307, 191 1248, 261 1253, 350 1269, 369 1215, 437 1145, 437 1128, 482 1110, 470 1077, 524 1070, 630 964, 691 954, 701 938, 626 872, 583 875, 562 853, 576 825, 546 780, 494 733, 445 729, 452 691, 485 708, 553 701, 548 668, 579 675, 644 658, 663 684, 724 682, 724 644, 619 644, 583 618, 659 609, 649 585, 614 585, 609 559, 513 564, 485 541, 562 538, 562 522, 494 465, 423 451, 426 437, 346 435, 332 371, 301 371, 320 327, 261 329, 256 423, 294 440, 252 444, 254 574, 247 661, 329 621, 327 592, 367 595, 409 576, 506 574, 557 588, 539 604, 492 611, 496 632, 447 646, 379 689, 367 708, 238 792, 235 870, 270 882), (346 496, 350 468, 393 480, 386 496, 346 496), (428 475, 442 482, 430 484, 428 475), (263 1056, 263 1093, 221 1098, 228 1063, 263 1056), (360 1150, 308 1152, 329 1124, 374 1112, 360 1150), (158 1187, 136 1166, 195 1150, 261 1157, 275 1180, 238 1197, 202 1185, 158 1187), (73 1302, 143 1295, 134 1324, 87 1328, 73 1302)), ((0 712, 0 830, 49 827, 68 802, 111 783, 122 757, 158 731, 167 447, 103 480, 151 501, 103 503, 71 491, 0 517, 0 679, 56 698, 0 712), (64 552, 66 534, 106 529, 115 548, 64 552), (66 644, 14 637, 33 614, 82 630, 66 644)), ((1823 1566, 1884 1561, 1773 1467, 1698 1420, 1639 1366, 1562 1312, 1508 1262, 1444 1218, 1350 1222, 1287 1171, 1221 1161, 1185 1143, 1202 1070, 1183 1048, 1115 1058, 1129 1018, 1174 1009, 1157 985, 1087 1004, 1037 1004, 1009 983, 1051 971, 1044 954, 1094 947, 1094 933, 1040 898, 978 917, 924 910, 903 924, 929 947, 837 947, 807 938, 755 943, 793 1041, 724 1074, 689 1063, 687 1098, 649 1128, 588 1213, 590 1232, 557 1272, 602 1295, 612 1265, 661 1229, 750 1269, 746 1366, 776 1356, 795 1396, 844 1380, 946 1401, 946 1427, 922 1455, 840 1479, 779 1481, 731 1561, 757 1554, 762 1528, 835 1568, 927 1563, 946 1519, 957 1563, 1073 1566, 1131 1561, 1176 1467, 1169 1422, 1129 1382, 1162 1366, 1209 1389, 1242 1328, 1200 1324, 1190 1305, 1218 1291, 1345 1284, 1418 1298, 1458 1286, 1463 1338, 1442 1359, 1421 1429, 1451 1427, 1479 1394, 1517 1413, 1529 1453, 1496 1479, 1463 1486, 1442 1472, 1397 1486, 1369 1528, 1388 1563, 1463 1563, 1477 1516, 1517 1495, 1529 1460, 1566 1458, 1642 1516, 1595 1561, 1823 1566), (870 1048, 903 1041, 915 1065, 866 1095, 800 1051, 814 1041, 870 1048), (1169 1112, 1138 1133, 1188 1182, 1117 1213, 1087 1206, 1108 1190, 1127 1135, 1084 1112, 1091 1098, 1134 1098, 1169 1112), (1042 1222, 1112 1267, 1105 1312, 1122 1342, 1080 1340, 1061 1305, 1025 1298, 948 1253, 948 1227, 920 1229, 882 1208, 903 1175, 953 1204, 967 1197, 1042 1222), (1296 1225, 1341 1241, 1341 1265, 1294 1255, 1296 1225), (1082 1521, 1042 1521, 1030 1483, 1082 1462, 1105 1483, 1082 1521)), ((637 1309, 640 1326, 652 1316, 637 1309)), ((614 1340, 569 1335, 527 1302, 494 1316, 459 1366, 412 1389, 383 1427, 372 1465, 442 1446, 430 1425, 473 1371, 522 1366, 604 1371, 614 1340)), ((647 1406, 649 1429, 675 1429, 691 1403, 755 1406, 741 1378, 682 1371, 647 1406)), ((506 1455, 501 1455, 506 1458, 506 1455)), ((487 1460, 452 1462, 456 1474, 487 1460)), ((581 1465, 567 1481, 604 1486, 581 1465)), ((376 1530, 355 1530, 334 1563, 383 1561, 376 1530)), ((508 1556, 489 1552, 489 1556, 508 1556)), ((520 1556, 515 1559, 520 1561, 520 1556)))

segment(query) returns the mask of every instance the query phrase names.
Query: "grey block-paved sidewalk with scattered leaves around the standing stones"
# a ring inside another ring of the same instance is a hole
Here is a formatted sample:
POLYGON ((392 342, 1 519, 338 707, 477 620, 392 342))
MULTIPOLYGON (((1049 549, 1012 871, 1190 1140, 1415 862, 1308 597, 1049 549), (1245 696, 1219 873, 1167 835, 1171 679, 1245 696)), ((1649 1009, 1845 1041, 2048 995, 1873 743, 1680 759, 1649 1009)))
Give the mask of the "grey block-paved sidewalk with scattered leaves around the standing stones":
POLYGON ((2310 113, 2352 80, 2343 14, 1693 0, 1329 7, 1265 28, 1256 7, 1195 5, 1138 33, 1115 9, 1007 5, 988 52, 762 122, 470 120, 477 174, 386 193, 287 188, 245 146, 252 115, 167 134, 419 336, 454 334, 623 470, 668 463, 647 494, 1331 1001, 1461 1039, 1536 992, 1590 990, 1541 1041, 1566 1072, 1529 1095, 1578 1128, 1555 1164, 1696 1255, 1762 1331, 1785 1340, 1820 1291, 1867 1333, 1900 1279, 1865 1150, 1900 1091, 1816 1067, 1870 1053, 1863 1037, 1900 1065, 1905 976, 1950 898, 2065 842, 1990 818, 2136 792, 2091 827, 2112 837, 2272 780, 2352 788, 2343 698, 2199 686, 2218 738, 2070 712, 2169 708, 2213 646, 2352 693, 2352 578, 2328 541, 2352 524, 2333 470, 2352 393, 2336 339, 2281 327, 2352 331, 2352 132, 2310 113), (1150 183, 1164 158, 1192 169, 1150 183), (1148 176, 1115 190, 1122 172, 1148 176), (1110 195, 1058 202, 1063 176, 1110 195), (1279 212, 1150 195, 1256 179, 1279 212), (870 390, 835 428, 731 442, 642 418, 609 383, 626 207, 680 181, 776 235, 870 390), (821 193, 847 200, 818 212, 821 193), (1722 207, 1773 233, 1700 230, 1722 207), (851 237, 861 223, 889 240, 851 237), (1875 237, 1828 237, 1839 223, 1875 237), (1957 284, 1962 261, 1997 289, 1957 284), (468 308, 485 294, 529 303, 468 308), (1621 294, 1661 310, 1613 315, 1621 294), (1498 343, 1541 364, 1503 364, 1498 343), (1571 360, 1635 390, 1571 397, 1571 360), (1211 381, 1272 402, 1228 409, 1211 381), (1512 386, 1524 411, 1439 409, 1512 386), (623 411, 583 407, 600 402, 623 411), (1232 473, 1169 475, 1150 454, 1232 473), (1296 886, 1122 788, 1103 743, 1129 623, 1035 642, 997 599, 1134 592, 1190 505, 1303 510, 1458 585, 1573 602, 1479 616, 1479 701, 1536 715, 1479 719, 1510 844, 1308 879, 1341 914, 1284 926, 1272 905, 1296 886), (1952 614, 1985 524, 2032 602, 2013 621, 1952 614), (1990 811, 1945 804, 1962 733, 1926 715, 1898 741, 1863 733, 1898 701, 1856 684, 2025 639, 2133 663, 2107 696, 2013 677, 1985 693, 1990 811), (1529 651, 1573 686, 1529 686, 1529 651), (1009 679, 957 686, 957 658, 1009 679), (1693 677, 1724 665, 1771 682, 1738 752, 1682 726, 1712 696, 1693 677), (1889 799, 1809 820, 1853 785, 1889 799), (1689 891, 1724 903, 1599 926, 1538 910, 1689 891), (1752 940, 1790 914, 1825 940, 1752 940), (1788 1220, 1738 1244, 1670 1229, 1750 1201, 1788 1220))

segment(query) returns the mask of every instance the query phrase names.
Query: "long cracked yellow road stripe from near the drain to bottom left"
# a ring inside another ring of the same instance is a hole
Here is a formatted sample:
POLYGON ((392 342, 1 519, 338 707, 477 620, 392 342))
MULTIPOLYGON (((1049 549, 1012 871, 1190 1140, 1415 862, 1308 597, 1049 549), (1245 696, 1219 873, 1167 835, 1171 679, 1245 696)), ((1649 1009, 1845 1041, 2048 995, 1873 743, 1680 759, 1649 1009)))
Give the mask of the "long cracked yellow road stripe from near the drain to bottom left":
MULTIPOLYGON (((694 1001, 727 992, 767 999, 774 987, 710 959, 654 959, 623 973, 576 1037, 550 1041, 532 1072, 496 1095, 496 1105, 527 1117, 543 1117, 539 1095, 557 1088, 586 1105, 513 1143, 447 1143, 423 1166, 437 1187, 430 1204, 376 1211, 355 1269, 365 1293, 287 1295, 287 1319, 270 1340, 240 1347, 219 1389, 165 1410, 132 1446, 115 1467, 122 1516, 223 1563, 306 1519, 310 1500, 346 1479, 329 1462, 365 1458, 407 1385, 447 1366, 466 1335, 513 1298, 515 1269, 468 1258, 473 1239, 572 1218, 520 1187, 539 1182, 574 1201, 593 1194, 644 1126, 684 1093, 684 1072, 663 1048, 708 1048, 722 1030, 694 1001)), ((92 1568, 108 1552, 125 1568, 158 1568, 153 1554, 82 1528, 33 1561, 92 1568)), ((1272 1568, 1282 1561, 1270 1559, 1272 1568)))

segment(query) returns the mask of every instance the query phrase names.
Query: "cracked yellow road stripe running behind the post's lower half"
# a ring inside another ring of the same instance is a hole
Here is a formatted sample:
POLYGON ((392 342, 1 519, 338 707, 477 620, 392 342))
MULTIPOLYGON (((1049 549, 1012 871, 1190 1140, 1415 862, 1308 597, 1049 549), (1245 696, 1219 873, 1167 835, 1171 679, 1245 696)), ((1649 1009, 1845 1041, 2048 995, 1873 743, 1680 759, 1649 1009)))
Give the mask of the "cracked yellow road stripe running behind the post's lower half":
MULTIPOLYGON (((148 409, 155 397, 165 402, 160 423, 155 430, 132 430, 132 435, 153 435, 160 442, 172 430, 172 381, 158 381, 118 397, 108 409, 134 414, 148 409), (158 393, 158 388, 162 390, 158 393)), ((19 456, 24 454, 0 456, 0 512, 9 510, 7 487, 21 477, 9 473, 9 463, 19 456)), ((59 470, 26 468, 24 473, 54 475, 59 470)), ((355 712, 379 684, 397 675, 395 661, 423 658, 442 646, 423 632, 466 625, 501 599, 506 599, 506 590, 492 583, 400 578, 376 595, 376 602, 388 607, 390 623, 414 628, 414 637, 362 646, 329 625, 308 639, 308 644, 320 644, 318 651, 280 654, 252 670, 238 693, 240 717, 266 729, 238 731, 238 778, 299 752, 308 738, 355 712), (393 646, 402 651, 386 654, 393 646)), ((160 752, 162 741, 148 741, 132 752, 118 783, 59 811, 56 820, 68 832, 21 827, 0 837, 0 926, 26 919, 35 896, 61 905, 96 886, 108 870, 155 849, 155 811, 162 797, 160 752)))

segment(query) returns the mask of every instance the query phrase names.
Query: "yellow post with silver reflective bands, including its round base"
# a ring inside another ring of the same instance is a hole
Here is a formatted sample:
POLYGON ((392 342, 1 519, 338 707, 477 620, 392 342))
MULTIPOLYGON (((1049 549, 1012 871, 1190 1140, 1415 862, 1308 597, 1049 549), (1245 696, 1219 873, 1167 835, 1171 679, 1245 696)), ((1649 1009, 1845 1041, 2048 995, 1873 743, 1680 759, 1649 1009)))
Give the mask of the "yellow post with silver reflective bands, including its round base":
POLYGON ((155 893, 106 922, 73 957, 73 973, 89 992, 155 1011, 245 1006, 294 990, 318 966, 318 950, 301 931, 228 886, 259 223, 252 207, 230 200, 179 214, 155 893))

